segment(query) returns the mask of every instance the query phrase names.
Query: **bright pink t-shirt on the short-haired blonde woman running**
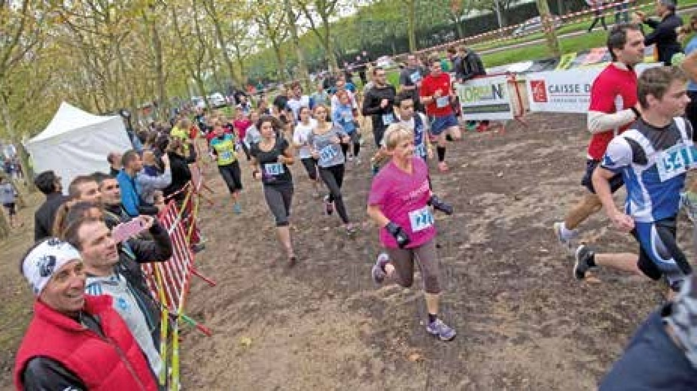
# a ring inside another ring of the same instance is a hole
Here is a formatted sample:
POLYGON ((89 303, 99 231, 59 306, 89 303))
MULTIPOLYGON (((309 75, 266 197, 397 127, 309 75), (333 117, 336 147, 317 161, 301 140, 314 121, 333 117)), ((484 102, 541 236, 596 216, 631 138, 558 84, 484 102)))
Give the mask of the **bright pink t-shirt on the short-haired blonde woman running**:
MULTIPOLYGON (((408 174, 390 162, 375 176, 368 194, 368 205, 379 206, 385 217, 406 231, 411 240, 407 248, 424 245, 436 236, 427 205, 431 198, 428 166, 413 157, 412 167, 408 174)), ((385 247, 397 248, 397 241, 384 227, 380 229, 380 241, 385 247)))

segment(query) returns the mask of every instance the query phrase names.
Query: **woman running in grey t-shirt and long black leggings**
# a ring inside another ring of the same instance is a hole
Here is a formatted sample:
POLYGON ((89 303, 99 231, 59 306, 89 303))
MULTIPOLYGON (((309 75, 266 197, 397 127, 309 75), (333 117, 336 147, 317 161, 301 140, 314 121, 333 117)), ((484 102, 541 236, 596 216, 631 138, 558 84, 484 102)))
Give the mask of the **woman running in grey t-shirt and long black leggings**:
POLYGON ((353 235, 353 233, 358 231, 358 227, 355 227, 348 220, 344 197, 342 197, 344 162, 346 160, 340 144, 342 142, 347 143, 349 138, 339 125, 332 125, 332 123, 326 121, 327 114, 328 109, 326 106, 317 105, 314 108, 314 118, 317 120, 317 126, 307 137, 307 144, 310 146, 312 157, 317 159, 319 176, 329 189, 329 196, 325 199, 327 214, 330 215, 332 213, 333 203, 337 208, 339 217, 344 222, 346 233, 353 235))

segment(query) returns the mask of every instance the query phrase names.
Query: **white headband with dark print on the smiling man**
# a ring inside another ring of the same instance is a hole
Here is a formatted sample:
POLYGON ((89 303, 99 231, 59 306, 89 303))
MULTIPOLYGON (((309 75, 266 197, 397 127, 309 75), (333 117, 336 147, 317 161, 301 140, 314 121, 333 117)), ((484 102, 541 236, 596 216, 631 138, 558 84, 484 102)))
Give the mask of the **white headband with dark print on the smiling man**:
POLYGON ((26 254, 22 261, 22 274, 29 281, 34 294, 39 296, 53 273, 75 259, 82 260, 75 247, 58 238, 49 238, 26 254))

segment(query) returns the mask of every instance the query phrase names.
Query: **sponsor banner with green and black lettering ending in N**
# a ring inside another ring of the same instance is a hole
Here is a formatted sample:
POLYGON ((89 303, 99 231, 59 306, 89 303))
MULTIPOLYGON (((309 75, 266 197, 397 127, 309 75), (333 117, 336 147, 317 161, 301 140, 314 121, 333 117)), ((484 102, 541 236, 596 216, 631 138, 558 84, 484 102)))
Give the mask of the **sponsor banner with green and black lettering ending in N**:
POLYGON ((468 120, 513 119, 506 76, 480 77, 455 84, 462 114, 468 120))

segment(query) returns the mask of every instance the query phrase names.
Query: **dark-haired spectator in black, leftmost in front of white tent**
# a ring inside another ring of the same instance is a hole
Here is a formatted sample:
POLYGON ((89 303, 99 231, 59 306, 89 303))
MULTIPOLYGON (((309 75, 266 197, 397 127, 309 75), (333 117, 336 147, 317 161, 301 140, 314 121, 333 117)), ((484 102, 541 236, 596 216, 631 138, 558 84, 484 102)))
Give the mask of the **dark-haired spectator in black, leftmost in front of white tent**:
POLYGON ((51 236, 56 211, 61 207, 65 197, 61 194, 61 178, 54 171, 44 171, 36 176, 34 185, 46 196, 41 206, 34 213, 34 240, 51 236))

